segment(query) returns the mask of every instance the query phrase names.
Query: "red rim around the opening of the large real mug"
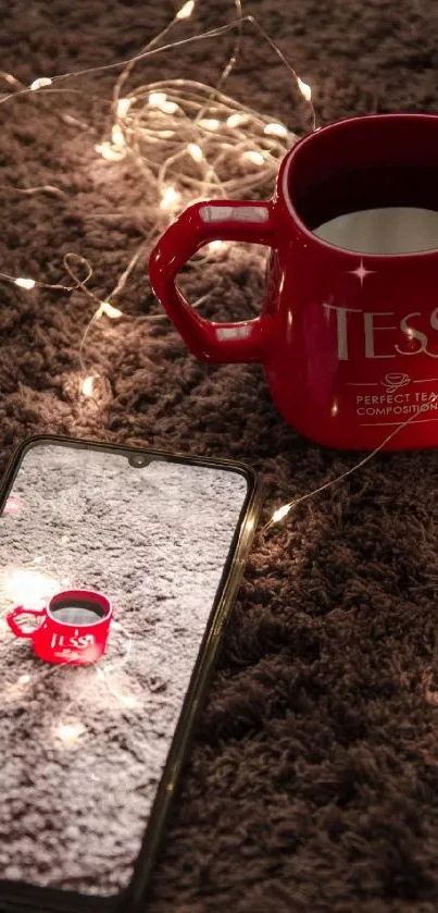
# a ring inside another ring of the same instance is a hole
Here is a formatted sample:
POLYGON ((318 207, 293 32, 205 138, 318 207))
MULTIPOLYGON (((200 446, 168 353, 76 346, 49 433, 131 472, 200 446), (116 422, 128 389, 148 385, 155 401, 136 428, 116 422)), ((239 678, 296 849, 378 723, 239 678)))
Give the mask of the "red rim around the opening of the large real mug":
POLYGON ((301 235, 304 235, 305 239, 312 242, 317 247, 324 247, 327 251, 342 254, 345 257, 348 257, 351 260, 358 260, 360 257, 362 260, 366 260, 366 262, 378 260, 384 260, 385 262, 397 263, 400 262, 401 259, 418 259, 420 258, 433 258, 438 256, 438 245, 437 247, 429 248, 428 250, 412 250, 405 254, 367 254, 361 250, 350 250, 349 248, 341 247, 338 244, 331 244, 324 238, 318 237, 314 234, 310 229, 308 229, 305 222, 299 215, 293 200, 291 198, 291 194, 289 192, 289 181, 290 181, 290 170, 295 164, 295 160, 298 156, 302 155, 302 151, 305 147, 313 141, 315 136, 320 136, 321 134, 327 133, 335 133, 338 131, 342 131, 346 128, 346 124, 353 126, 358 122, 363 121, 389 121, 389 120, 399 120, 399 121, 435 121, 438 127, 438 114, 423 114, 423 113, 415 113, 415 112, 406 112, 406 113, 388 113, 388 114, 363 114, 354 118, 343 118, 340 121, 335 121, 331 124, 326 124, 323 127, 317 127, 312 133, 308 133, 305 136, 298 139, 298 141, 292 146, 289 152, 286 153, 285 158, 283 159, 280 170, 278 172, 278 180, 277 180, 277 194, 280 200, 284 202, 288 215, 292 219, 296 227, 299 230, 301 235))

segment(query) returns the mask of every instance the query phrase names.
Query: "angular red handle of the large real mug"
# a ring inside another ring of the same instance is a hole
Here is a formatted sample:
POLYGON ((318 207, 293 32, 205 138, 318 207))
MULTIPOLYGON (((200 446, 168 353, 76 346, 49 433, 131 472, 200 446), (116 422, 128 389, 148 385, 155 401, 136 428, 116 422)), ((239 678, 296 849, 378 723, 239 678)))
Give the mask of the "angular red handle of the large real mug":
POLYGON ((256 317, 213 323, 190 307, 175 284, 177 272, 211 240, 242 240, 276 247, 274 207, 247 200, 203 200, 186 209, 152 250, 152 288, 186 345, 201 361, 262 361, 268 320, 256 317))

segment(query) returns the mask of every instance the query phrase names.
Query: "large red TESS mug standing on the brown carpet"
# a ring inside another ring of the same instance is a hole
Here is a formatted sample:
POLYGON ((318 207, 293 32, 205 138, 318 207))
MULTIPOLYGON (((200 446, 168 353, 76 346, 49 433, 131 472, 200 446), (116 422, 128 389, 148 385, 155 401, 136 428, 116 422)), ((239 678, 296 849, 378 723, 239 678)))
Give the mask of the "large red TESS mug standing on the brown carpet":
POLYGON ((267 202, 205 200, 166 230, 153 291, 203 361, 264 366, 284 418, 340 449, 438 444, 438 116, 330 124, 281 162, 267 202), (213 323, 175 284, 212 240, 272 248, 260 317, 213 323), (412 420, 411 420, 412 419, 412 420))

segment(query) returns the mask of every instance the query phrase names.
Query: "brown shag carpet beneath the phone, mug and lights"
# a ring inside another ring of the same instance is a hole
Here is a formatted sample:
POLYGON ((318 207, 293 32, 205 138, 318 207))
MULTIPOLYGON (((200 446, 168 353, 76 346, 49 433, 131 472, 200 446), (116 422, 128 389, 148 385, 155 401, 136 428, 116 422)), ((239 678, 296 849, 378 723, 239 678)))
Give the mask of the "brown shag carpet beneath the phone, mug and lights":
MULTIPOLYGON (((129 55, 176 9, 167 0, 1 5, 0 69, 25 84, 129 55)), ((321 124, 436 111, 434 3, 254 0, 246 12, 312 85, 321 124)), ((201 3, 182 34, 233 16, 227 0, 201 3)), ((249 36, 229 92, 299 131, 286 71, 249 36)), ((212 82, 229 44, 155 58, 142 79, 212 82)), ((63 255, 76 251, 104 298, 141 242, 151 218, 141 177, 95 150, 113 83, 107 72, 70 81, 74 92, 0 107, 1 272, 65 283, 63 255), (16 192, 42 184, 63 193, 16 192)), ((215 320, 240 319, 261 298, 250 250, 189 270, 185 282, 192 296, 216 289, 204 309, 215 320)), ((160 308, 145 261, 117 304, 125 316, 95 325, 84 351, 108 379, 91 402, 78 396, 78 349, 93 303, 80 291, 0 286, 3 466, 13 445, 42 431, 238 458, 266 485, 266 519, 352 466, 356 457, 285 425, 258 367, 201 366, 166 320, 149 321, 160 308)), ((437 484, 434 451, 381 456, 255 540, 151 913, 435 913, 437 484)))

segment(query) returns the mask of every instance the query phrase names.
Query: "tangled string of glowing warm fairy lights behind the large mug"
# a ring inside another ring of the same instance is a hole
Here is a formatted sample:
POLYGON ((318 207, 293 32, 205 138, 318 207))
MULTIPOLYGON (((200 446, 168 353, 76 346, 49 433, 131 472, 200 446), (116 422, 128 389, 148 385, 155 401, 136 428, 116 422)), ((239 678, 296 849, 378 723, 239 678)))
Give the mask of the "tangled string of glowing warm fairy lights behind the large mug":
MULTIPOLYGON (((79 362, 83 372, 80 393, 92 397, 95 381, 99 373, 87 370, 85 347, 91 328, 107 317, 117 320, 123 311, 112 304, 124 289, 126 282, 142 257, 150 251, 154 240, 166 225, 188 203, 205 199, 212 194, 220 197, 243 197, 258 187, 266 186, 275 180, 278 163, 287 149, 296 140, 284 124, 275 122, 251 108, 240 104, 226 96, 222 89, 238 59, 245 22, 251 23, 268 42, 277 57, 293 77, 301 96, 310 107, 312 124, 315 126, 315 113, 311 101, 311 89, 303 83, 292 66, 287 62, 280 49, 252 16, 243 16, 241 0, 234 0, 237 20, 210 29, 200 35, 163 45, 171 30, 184 20, 188 20, 195 9, 196 0, 187 0, 175 13, 170 23, 155 35, 138 53, 128 60, 103 66, 88 67, 53 77, 39 77, 29 86, 23 86, 14 76, 0 73, 0 76, 15 91, 0 98, 0 104, 16 95, 26 92, 60 92, 59 84, 70 78, 121 69, 112 98, 112 124, 109 138, 96 145, 96 151, 107 161, 115 163, 128 160, 145 177, 148 190, 154 192, 155 218, 146 234, 146 238, 130 258, 118 277, 114 288, 104 299, 99 298, 89 287, 92 267, 80 255, 68 254, 63 258, 64 269, 72 279, 72 284, 49 284, 27 276, 12 276, 0 273, 0 279, 13 282, 20 288, 32 291, 36 286, 72 292, 80 288, 97 306, 86 325, 79 344, 79 362), (231 29, 238 30, 233 52, 225 64, 218 84, 215 87, 183 78, 161 81, 150 85, 123 91, 136 64, 153 54, 179 48, 204 38, 214 38, 231 29), (229 175, 233 174, 233 177, 229 175), (78 270, 83 275, 78 275, 78 270)), ((71 89, 67 89, 71 91, 71 89)), ((75 119, 65 114, 66 122, 75 119)), ((82 126, 87 126, 82 124, 82 126)), ((4 189, 4 188, 3 188, 4 189)), ((16 188, 14 188, 16 190, 16 188)), ((18 189, 18 193, 57 193, 51 185, 18 189)), ((63 192, 58 192, 63 196, 63 192)), ((221 250, 223 242, 212 242, 201 254, 208 258, 221 250)), ((193 307, 199 307, 209 295, 199 298, 193 307)), ((148 320, 166 319, 166 314, 150 314, 148 320)))

